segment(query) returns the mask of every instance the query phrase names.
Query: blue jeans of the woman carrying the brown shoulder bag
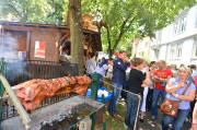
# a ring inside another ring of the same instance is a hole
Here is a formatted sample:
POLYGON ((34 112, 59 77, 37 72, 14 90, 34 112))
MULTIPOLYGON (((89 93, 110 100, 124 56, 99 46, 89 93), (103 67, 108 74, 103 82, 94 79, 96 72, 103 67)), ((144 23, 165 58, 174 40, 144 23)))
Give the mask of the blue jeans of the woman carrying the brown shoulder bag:
POLYGON ((182 130, 184 121, 189 114, 190 109, 178 109, 177 117, 171 117, 163 115, 162 118, 162 130, 169 130, 169 125, 173 125, 173 130, 182 130))

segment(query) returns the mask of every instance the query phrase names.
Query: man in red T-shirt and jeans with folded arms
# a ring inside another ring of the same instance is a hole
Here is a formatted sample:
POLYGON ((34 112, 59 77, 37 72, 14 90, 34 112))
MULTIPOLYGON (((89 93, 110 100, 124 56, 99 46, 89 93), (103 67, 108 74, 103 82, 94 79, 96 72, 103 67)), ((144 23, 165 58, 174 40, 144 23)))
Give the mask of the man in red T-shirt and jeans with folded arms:
POLYGON ((158 66, 159 66, 159 70, 154 71, 153 73, 154 90, 153 90, 152 106, 151 106, 152 119, 155 119, 158 117, 158 101, 160 96, 162 97, 162 102, 164 101, 166 95, 165 92, 166 82, 170 78, 173 76, 172 71, 166 69, 165 61, 160 60, 158 66))

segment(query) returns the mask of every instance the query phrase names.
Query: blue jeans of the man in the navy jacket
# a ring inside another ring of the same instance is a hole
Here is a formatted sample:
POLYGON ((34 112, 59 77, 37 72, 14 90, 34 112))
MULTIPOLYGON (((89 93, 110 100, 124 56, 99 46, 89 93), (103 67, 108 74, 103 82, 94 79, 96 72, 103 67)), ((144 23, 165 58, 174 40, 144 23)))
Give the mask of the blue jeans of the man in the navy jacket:
POLYGON ((123 84, 114 83, 114 82, 112 82, 112 84, 113 84, 113 86, 116 86, 116 87, 114 87, 114 90, 113 90, 113 96, 112 96, 111 103, 108 105, 108 113, 112 116, 114 116, 114 115, 116 115, 116 105, 117 105, 117 102, 118 102, 120 93, 121 93, 123 84))

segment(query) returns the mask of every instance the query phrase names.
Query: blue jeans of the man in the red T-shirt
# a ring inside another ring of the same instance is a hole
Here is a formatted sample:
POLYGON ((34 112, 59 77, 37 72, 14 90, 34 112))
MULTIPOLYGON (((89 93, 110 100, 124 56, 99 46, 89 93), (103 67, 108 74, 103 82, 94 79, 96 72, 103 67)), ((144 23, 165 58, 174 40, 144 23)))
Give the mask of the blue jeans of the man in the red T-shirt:
POLYGON ((158 101, 160 96, 162 97, 162 102, 165 99, 166 92, 161 91, 158 88, 153 90, 153 97, 152 97, 152 107, 151 107, 151 114, 154 117, 158 117, 158 101))

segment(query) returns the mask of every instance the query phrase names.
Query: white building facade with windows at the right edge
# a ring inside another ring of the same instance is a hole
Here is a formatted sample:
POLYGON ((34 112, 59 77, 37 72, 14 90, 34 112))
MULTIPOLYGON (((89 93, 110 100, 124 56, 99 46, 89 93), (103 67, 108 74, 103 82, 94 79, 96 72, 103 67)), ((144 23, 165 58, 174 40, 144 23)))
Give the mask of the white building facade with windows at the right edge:
POLYGON ((150 60, 197 64, 197 4, 182 11, 174 23, 155 33, 150 60))

